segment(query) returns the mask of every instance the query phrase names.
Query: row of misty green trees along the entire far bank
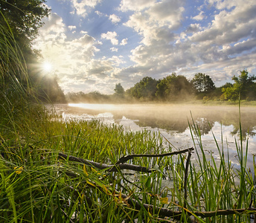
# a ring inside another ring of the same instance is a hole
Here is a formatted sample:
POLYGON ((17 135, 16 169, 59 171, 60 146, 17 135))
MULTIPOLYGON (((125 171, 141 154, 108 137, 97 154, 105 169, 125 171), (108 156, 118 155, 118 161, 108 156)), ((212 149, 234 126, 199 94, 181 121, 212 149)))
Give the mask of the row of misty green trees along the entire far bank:
POLYGON ((234 83, 216 87, 214 81, 207 74, 197 73, 192 80, 183 75, 170 74, 161 80, 144 77, 132 88, 124 91, 121 83, 115 85, 112 95, 100 94, 95 91, 85 94, 70 92, 66 94, 68 101, 88 103, 121 102, 124 100, 138 101, 185 101, 185 100, 256 100, 256 77, 249 75, 246 70, 240 71, 238 76, 232 77, 234 83))

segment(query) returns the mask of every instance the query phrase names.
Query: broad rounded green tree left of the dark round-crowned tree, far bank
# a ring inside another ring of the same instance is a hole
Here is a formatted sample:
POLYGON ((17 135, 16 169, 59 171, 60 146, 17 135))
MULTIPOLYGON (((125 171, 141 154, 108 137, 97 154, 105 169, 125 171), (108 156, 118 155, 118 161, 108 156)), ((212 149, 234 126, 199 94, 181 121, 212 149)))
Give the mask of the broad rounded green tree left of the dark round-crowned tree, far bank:
POLYGON ((161 100, 181 100, 191 97, 193 93, 192 84, 187 78, 182 75, 177 76, 176 73, 164 77, 157 88, 156 96, 161 100))

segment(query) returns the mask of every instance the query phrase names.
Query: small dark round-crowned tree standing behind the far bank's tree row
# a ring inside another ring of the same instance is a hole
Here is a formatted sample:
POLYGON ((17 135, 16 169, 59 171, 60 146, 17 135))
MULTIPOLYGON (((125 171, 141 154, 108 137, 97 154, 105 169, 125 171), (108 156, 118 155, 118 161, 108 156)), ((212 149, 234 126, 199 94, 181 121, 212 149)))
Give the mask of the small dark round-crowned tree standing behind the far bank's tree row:
POLYGON ((209 93, 215 89, 215 85, 213 80, 211 80, 211 77, 202 73, 195 74, 191 83, 193 83, 193 86, 198 93, 209 93))

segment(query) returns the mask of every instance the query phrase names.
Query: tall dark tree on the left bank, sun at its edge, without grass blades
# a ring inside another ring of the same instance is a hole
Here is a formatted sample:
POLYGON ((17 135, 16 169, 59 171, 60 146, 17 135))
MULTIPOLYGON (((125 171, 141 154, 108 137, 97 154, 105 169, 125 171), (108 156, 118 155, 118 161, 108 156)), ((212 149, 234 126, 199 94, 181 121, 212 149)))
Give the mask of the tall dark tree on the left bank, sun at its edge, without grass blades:
MULTIPOLYGON (((0 0, 0 24, 1 30, 4 30, 0 31, 0 37, 7 39, 6 42, 10 42, 13 48, 19 48, 22 52, 20 62, 23 63, 33 89, 39 87, 37 96, 42 99, 51 99, 52 102, 63 102, 65 101, 64 94, 57 83, 57 77, 51 81, 50 77, 39 77, 34 70, 39 54, 33 51, 33 39, 36 38, 39 28, 43 25, 42 18, 50 13, 50 10, 45 7, 45 2, 45 0, 0 0)), ((2 57, 0 55, 0 60, 3 60, 2 57)), ((10 61, 10 67, 16 68, 15 65, 11 65, 14 63, 13 60, 10 61)), ((17 76, 18 68, 13 73, 16 74, 16 80, 20 85, 28 85, 17 76)), ((5 77, 5 80, 7 81, 8 77, 5 77)))

